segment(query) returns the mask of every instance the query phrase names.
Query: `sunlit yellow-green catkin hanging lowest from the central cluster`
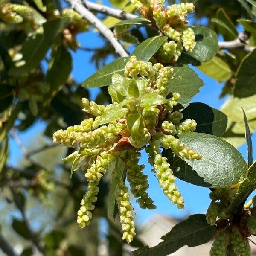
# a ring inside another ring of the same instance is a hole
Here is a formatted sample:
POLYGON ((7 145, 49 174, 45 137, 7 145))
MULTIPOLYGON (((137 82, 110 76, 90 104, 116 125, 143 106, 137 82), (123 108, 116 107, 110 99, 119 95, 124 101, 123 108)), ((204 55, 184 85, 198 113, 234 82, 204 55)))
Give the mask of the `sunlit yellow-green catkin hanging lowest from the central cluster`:
POLYGON ((134 216, 132 213, 132 205, 130 203, 130 195, 128 188, 123 181, 119 181, 119 188, 116 190, 116 201, 120 212, 120 222, 122 224, 122 231, 124 231, 122 239, 131 243, 133 237, 136 235, 134 226, 134 216))

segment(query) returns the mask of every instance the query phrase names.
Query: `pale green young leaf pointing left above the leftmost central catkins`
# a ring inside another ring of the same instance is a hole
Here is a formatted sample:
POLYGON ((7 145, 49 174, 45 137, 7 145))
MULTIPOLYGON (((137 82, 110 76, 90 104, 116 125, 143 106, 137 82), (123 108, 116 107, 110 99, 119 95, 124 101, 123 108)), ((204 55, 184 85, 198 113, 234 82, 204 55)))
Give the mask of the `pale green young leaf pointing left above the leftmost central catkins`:
POLYGON ((98 127, 99 125, 104 125, 109 122, 114 122, 117 118, 124 117, 127 113, 127 108, 121 108, 116 105, 111 105, 105 108, 102 115, 96 118, 93 126, 98 127))

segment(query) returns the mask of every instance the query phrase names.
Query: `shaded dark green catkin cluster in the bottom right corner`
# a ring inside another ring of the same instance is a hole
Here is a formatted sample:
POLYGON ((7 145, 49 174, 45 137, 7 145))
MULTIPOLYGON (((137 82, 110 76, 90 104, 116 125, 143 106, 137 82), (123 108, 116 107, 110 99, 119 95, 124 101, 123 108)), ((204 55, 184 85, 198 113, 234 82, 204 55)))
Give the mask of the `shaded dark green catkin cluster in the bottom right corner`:
POLYGON ((212 200, 206 214, 208 224, 215 225, 218 221, 224 226, 218 231, 210 256, 250 256, 250 244, 247 237, 256 234, 256 211, 244 211, 241 219, 236 220, 227 210, 236 197, 237 188, 214 189, 210 193, 212 200), (231 253, 232 252, 232 253, 231 253))

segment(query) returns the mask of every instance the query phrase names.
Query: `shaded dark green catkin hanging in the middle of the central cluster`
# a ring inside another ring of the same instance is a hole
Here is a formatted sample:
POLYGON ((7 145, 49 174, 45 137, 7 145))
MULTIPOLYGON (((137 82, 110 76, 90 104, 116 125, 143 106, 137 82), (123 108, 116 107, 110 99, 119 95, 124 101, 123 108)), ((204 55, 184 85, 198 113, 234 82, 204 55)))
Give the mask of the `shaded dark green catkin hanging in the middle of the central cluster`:
POLYGON ((153 200, 145 192, 148 185, 148 175, 145 175, 142 170, 144 165, 139 165, 140 152, 129 150, 129 158, 126 165, 126 177, 131 186, 131 193, 135 198, 138 198, 136 202, 140 204, 142 209, 155 209, 156 206, 153 204, 153 200))

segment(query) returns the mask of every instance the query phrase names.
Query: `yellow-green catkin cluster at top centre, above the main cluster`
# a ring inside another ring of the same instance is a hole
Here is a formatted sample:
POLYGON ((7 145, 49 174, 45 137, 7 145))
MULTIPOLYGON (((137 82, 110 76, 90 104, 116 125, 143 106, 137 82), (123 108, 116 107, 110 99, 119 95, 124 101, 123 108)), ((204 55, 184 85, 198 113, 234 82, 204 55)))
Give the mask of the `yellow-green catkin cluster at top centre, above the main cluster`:
POLYGON ((165 9, 164 0, 131 0, 141 15, 151 21, 159 33, 166 35, 168 40, 163 43, 157 53, 161 63, 175 63, 182 51, 192 52, 195 48, 195 33, 188 27, 187 14, 194 12, 193 3, 181 3, 165 9))

